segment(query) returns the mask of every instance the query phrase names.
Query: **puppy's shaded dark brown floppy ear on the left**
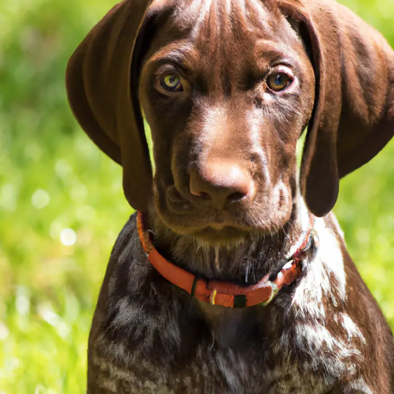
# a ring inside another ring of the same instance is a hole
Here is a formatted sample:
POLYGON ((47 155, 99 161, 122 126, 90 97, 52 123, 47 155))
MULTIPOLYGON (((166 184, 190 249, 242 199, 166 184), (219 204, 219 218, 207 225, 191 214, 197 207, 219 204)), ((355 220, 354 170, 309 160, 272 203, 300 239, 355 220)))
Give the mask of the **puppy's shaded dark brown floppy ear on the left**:
POLYGON ((152 167, 138 102, 143 51, 156 16, 171 0, 124 0, 91 30, 71 56, 67 96, 95 144, 123 167, 130 205, 145 211, 153 195, 152 167))

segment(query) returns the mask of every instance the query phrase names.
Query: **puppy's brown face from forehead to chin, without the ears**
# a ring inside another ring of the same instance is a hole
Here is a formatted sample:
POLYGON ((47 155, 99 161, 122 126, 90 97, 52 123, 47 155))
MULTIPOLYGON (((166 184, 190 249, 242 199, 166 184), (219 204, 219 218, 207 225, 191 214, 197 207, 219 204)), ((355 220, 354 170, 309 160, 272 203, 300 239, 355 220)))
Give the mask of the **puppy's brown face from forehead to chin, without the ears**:
POLYGON ((278 11, 179 4, 155 31, 139 85, 164 224, 212 243, 285 226, 314 92, 305 48, 278 11))

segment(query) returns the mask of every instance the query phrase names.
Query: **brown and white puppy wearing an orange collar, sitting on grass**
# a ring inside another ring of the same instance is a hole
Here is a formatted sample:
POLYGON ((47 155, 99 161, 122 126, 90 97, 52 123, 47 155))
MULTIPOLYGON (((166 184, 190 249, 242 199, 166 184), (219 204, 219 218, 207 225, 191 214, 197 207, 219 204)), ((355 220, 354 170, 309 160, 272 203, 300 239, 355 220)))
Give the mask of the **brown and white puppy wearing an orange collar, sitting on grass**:
POLYGON ((138 211, 100 290, 88 393, 394 393, 393 334, 331 213, 394 133, 380 33, 334 0, 124 0, 66 87, 138 211))

